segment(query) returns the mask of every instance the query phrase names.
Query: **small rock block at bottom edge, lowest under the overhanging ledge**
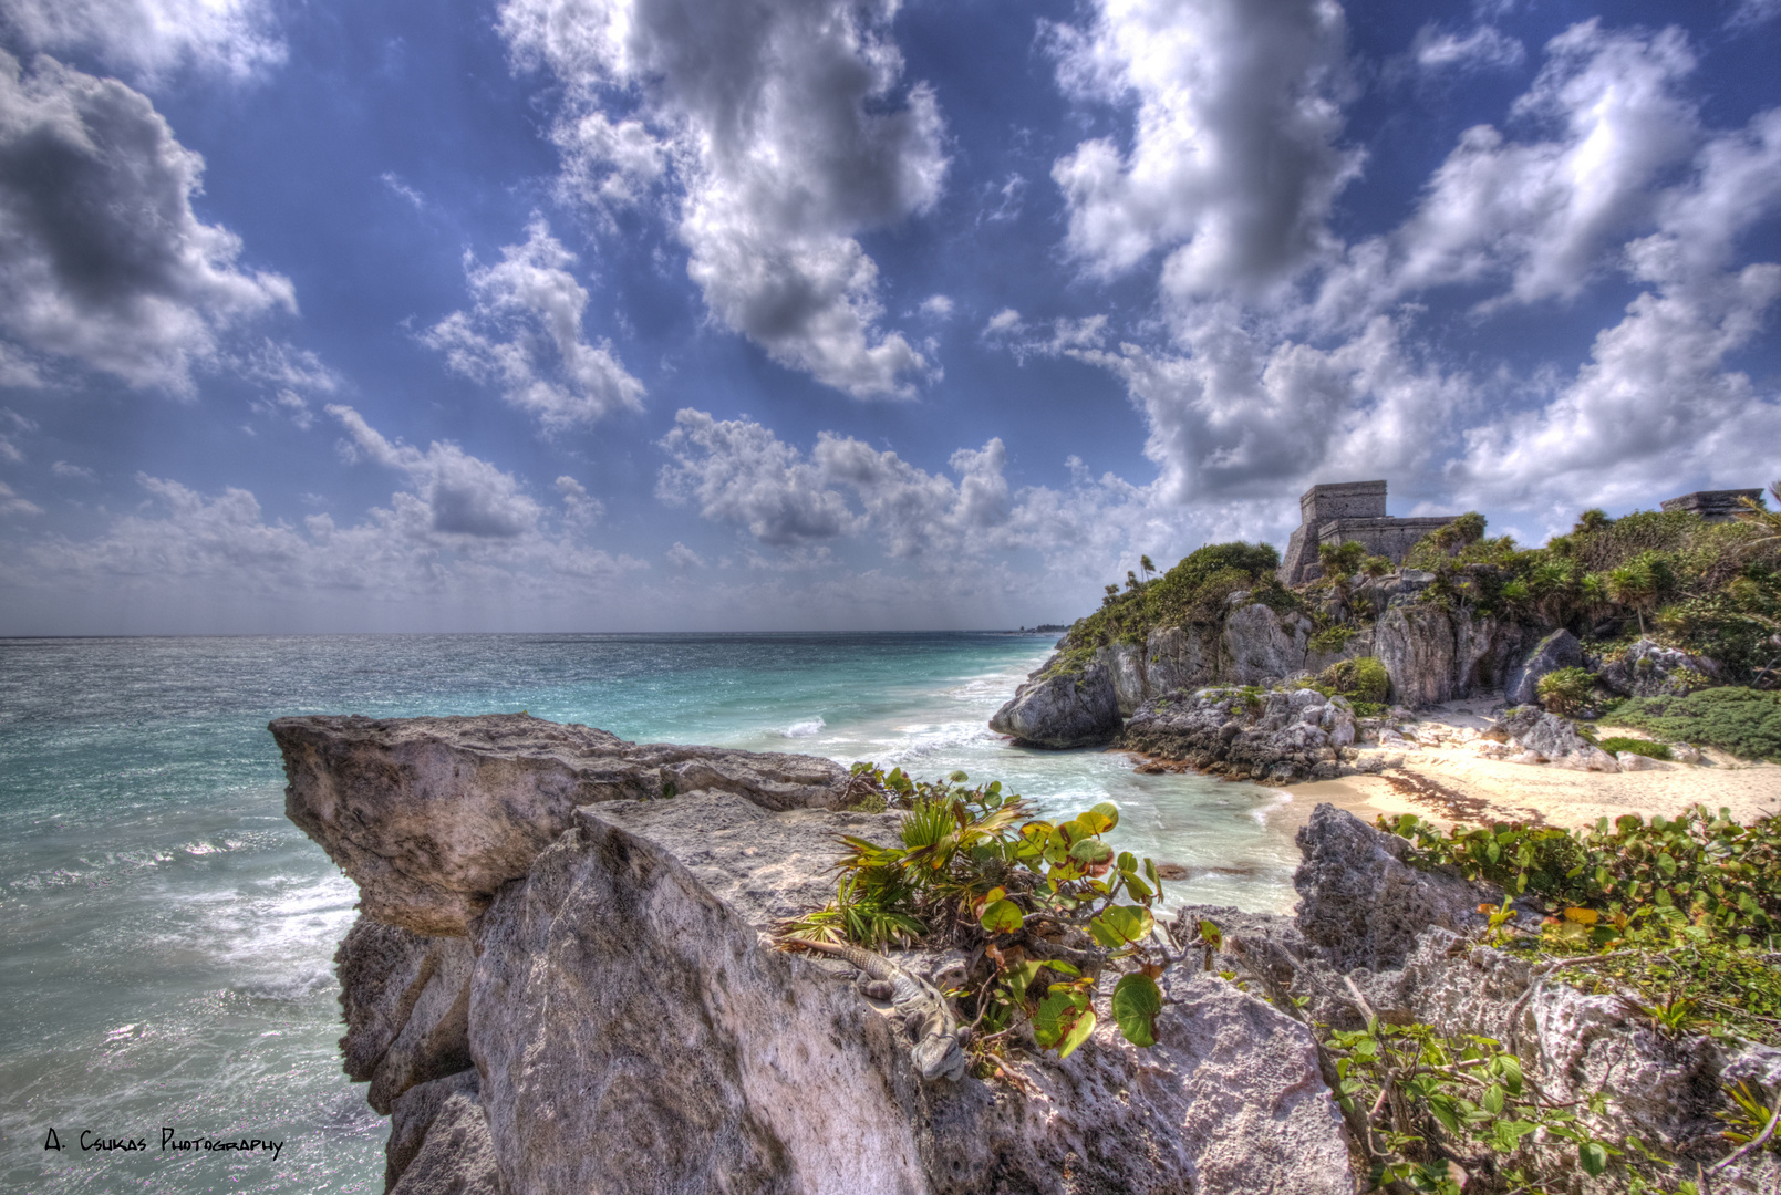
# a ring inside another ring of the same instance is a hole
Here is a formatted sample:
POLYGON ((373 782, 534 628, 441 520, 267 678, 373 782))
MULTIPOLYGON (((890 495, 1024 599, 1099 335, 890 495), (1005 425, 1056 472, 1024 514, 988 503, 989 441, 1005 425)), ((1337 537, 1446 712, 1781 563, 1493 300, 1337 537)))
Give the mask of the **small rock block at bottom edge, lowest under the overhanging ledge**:
POLYGON ((433 1079, 395 1101, 383 1152, 390 1195, 506 1195, 476 1070, 433 1079))

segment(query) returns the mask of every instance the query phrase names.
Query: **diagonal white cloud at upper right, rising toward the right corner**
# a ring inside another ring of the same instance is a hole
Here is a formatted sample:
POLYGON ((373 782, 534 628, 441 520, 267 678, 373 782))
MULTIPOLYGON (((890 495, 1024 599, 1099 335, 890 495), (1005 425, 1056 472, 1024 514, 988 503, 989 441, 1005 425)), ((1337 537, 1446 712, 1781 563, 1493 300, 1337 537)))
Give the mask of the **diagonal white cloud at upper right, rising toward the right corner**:
POLYGON ((1660 176, 1697 144, 1696 103, 1679 93, 1694 66, 1678 28, 1617 32, 1592 20, 1553 37, 1512 109, 1549 135, 1466 130, 1418 210, 1330 272, 1322 317, 1364 321, 1405 294, 1455 283, 1507 281, 1498 305, 1582 292, 1617 237, 1651 219, 1660 176))

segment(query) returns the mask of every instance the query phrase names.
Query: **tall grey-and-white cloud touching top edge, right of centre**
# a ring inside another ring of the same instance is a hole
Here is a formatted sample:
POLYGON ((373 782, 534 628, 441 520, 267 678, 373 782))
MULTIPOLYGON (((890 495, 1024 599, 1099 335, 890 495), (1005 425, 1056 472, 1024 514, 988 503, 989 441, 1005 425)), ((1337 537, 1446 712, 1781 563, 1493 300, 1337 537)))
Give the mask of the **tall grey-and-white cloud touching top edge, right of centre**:
POLYGON ((1097 137, 1053 166, 1069 249, 1099 276, 1168 253, 1175 297, 1291 278, 1359 169, 1336 144, 1345 41, 1334 0, 1099 0, 1054 27, 1067 91, 1134 105, 1129 153, 1097 137))

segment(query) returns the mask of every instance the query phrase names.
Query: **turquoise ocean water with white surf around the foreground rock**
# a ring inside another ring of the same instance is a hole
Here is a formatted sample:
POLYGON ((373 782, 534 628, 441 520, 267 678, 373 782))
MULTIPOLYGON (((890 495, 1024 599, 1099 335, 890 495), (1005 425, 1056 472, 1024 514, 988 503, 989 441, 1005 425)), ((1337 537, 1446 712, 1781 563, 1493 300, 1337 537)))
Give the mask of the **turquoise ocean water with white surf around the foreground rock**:
POLYGON ((1051 648, 1006 634, 0 639, 0 1190, 383 1190, 340 1072, 331 960, 356 890, 283 816, 267 719, 531 711, 999 778, 1120 809, 1170 901, 1291 905, 1279 791, 1029 752, 985 721, 1051 648), (55 1131, 61 1150, 45 1149, 55 1131), (175 1140, 283 1142, 162 1150, 175 1140), (82 1149, 141 1140, 144 1150, 82 1149))

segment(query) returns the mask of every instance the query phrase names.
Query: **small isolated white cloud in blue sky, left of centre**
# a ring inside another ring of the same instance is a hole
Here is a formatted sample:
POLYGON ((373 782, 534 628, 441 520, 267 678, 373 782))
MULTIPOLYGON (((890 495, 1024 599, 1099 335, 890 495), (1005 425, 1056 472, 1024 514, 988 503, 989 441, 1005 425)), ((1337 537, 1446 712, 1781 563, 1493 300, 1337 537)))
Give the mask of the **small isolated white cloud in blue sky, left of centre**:
POLYGON ((525 244, 504 248, 500 258, 481 267, 465 255, 476 308, 452 312, 422 340, 454 372, 500 386, 547 431, 641 411, 643 383, 613 356, 613 342, 582 335, 588 290, 568 272, 575 255, 550 226, 534 217, 525 244))

